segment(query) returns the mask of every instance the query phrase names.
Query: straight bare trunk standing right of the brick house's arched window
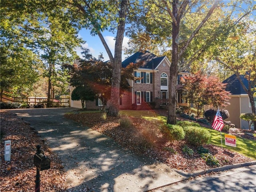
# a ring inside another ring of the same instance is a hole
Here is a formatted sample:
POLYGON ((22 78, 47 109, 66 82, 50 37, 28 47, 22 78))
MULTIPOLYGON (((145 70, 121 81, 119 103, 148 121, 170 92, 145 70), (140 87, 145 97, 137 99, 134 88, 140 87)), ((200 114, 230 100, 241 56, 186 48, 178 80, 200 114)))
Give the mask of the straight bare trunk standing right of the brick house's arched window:
POLYGON ((176 22, 172 22, 172 62, 170 66, 167 124, 176 124, 176 82, 178 74, 178 35, 180 27, 178 0, 172 2, 172 14, 176 22))

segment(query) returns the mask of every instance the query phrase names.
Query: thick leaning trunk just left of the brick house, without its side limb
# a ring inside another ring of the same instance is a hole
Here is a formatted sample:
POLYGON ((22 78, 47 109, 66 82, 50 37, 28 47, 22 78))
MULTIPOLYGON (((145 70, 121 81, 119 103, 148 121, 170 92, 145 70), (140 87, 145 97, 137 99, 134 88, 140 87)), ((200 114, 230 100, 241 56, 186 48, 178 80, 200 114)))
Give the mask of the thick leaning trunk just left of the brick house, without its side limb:
POLYGON ((116 32, 116 44, 114 63, 112 63, 112 86, 110 96, 110 106, 108 114, 110 116, 118 116, 119 112, 119 97, 120 97, 120 82, 121 82, 121 68, 122 68, 122 43, 124 39, 125 18, 128 7, 128 1, 122 0, 119 11, 119 22, 116 32))

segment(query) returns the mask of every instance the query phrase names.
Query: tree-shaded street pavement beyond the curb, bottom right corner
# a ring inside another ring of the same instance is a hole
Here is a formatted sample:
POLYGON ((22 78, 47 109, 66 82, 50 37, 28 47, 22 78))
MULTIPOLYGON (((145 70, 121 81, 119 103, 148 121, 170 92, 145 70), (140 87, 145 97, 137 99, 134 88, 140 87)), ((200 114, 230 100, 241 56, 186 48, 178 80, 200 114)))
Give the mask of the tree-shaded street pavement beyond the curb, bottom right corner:
POLYGON ((152 192, 256 192, 256 165, 220 172, 152 192))

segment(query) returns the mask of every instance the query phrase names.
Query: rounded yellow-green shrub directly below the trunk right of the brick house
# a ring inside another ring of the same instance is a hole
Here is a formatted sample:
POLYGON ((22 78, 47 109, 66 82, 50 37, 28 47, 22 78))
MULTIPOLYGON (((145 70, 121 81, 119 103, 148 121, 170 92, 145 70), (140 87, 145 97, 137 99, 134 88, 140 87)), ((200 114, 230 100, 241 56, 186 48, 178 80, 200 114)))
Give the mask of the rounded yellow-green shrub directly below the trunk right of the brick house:
POLYGON ((182 140, 185 137, 185 132, 182 126, 166 124, 162 126, 162 132, 166 138, 171 142, 171 145, 175 140, 182 140))

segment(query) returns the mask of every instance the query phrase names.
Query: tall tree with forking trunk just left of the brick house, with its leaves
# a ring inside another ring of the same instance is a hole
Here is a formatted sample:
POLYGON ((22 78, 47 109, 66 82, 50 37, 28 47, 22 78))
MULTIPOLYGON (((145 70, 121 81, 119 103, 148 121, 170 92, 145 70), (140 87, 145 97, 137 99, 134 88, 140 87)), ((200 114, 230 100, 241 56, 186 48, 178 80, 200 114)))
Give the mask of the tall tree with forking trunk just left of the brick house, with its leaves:
POLYGON ((98 35, 112 64, 112 85, 110 107, 108 113, 117 116, 119 111, 122 42, 125 31, 128 0, 104 1, 104 0, 61 0, 59 4, 68 6, 73 13, 76 23, 91 30, 92 35, 98 35), (102 32, 110 30, 116 32, 114 56, 106 43, 102 32))

